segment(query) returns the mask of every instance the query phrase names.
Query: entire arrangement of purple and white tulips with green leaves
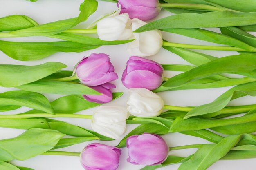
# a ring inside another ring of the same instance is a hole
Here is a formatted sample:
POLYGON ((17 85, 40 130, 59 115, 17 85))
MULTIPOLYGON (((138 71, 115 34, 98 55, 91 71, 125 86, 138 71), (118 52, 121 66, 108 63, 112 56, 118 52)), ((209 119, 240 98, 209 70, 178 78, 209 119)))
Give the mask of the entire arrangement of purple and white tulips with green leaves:
MULTIPOLYGON (((30 1, 36 6, 43 0, 30 1)), ((98 15, 98 3, 103 2, 84 0, 75 18, 49 23, 16 13, 0 18, 0 51, 20 63, 0 63, 4 91, 0 93, 0 127, 23 130, 13 138, 1 136, 0 170, 34 170, 18 166, 16 160, 38 155, 75 157, 85 170, 125 169, 119 166, 124 157, 135 168, 141 165, 141 170, 173 164, 179 164, 177 170, 207 170, 219 160, 255 160, 256 104, 230 104, 256 96, 256 1, 104 1, 115 4, 115 11, 105 9, 108 13, 98 15), (162 12, 168 16, 159 17, 162 12), (97 19, 90 20, 91 15, 97 19), (78 29, 80 23, 87 26, 78 29), (178 43, 168 37, 170 33, 215 45, 178 43), (54 41, 36 41, 37 37, 54 41), (126 49, 114 63, 111 55, 99 52, 101 46, 126 49), (162 50, 187 64, 156 62, 162 50), (234 55, 218 57, 207 50, 233 51, 234 55), (80 58, 72 57, 74 52, 80 58), (75 64, 70 67, 61 58, 55 60, 56 53, 67 53, 75 64), (125 60, 122 55, 130 57, 126 67, 119 68, 125 60), (48 62, 43 62, 46 57, 48 62), (172 94, 167 91, 192 89, 211 95, 211 88, 222 87, 227 90, 214 100, 202 99, 209 101, 203 105, 176 106, 161 97, 172 94), (51 95, 58 98, 52 100, 51 95), (124 97, 126 102, 116 104, 124 97), (20 111, 23 107, 29 110, 20 111), (83 113, 87 109, 90 114, 83 113), (72 119, 88 123, 89 128, 70 123, 72 119), (137 127, 128 131, 130 124, 137 127), (169 141, 175 141, 175 132, 204 143, 173 146, 169 141), (113 140, 118 141, 116 146, 107 142, 113 140), (78 144, 84 144, 84 149, 66 150, 78 144), (173 151, 190 148, 195 152, 186 156, 173 151)))

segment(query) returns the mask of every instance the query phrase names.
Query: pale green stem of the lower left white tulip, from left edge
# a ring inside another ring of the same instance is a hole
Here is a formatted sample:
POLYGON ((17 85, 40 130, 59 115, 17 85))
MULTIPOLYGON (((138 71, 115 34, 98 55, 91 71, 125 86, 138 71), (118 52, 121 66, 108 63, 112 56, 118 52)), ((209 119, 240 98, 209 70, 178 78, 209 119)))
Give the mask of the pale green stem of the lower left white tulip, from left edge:
POLYGON ((0 115, 0 119, 26 119, 26 118, 40 118, 40 117, 70 117, 70 118, 92 119, 92 115, 65 114, 65 113, 57 113, 55 115, 52 115, 49 113, 0 115))

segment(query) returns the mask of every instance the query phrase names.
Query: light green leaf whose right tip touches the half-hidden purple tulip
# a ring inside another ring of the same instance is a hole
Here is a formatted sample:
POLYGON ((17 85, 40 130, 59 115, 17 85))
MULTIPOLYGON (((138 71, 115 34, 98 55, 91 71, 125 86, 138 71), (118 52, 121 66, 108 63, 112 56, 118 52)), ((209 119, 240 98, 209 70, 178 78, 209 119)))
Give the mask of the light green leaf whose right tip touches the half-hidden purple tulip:
POLYGON ((83 84, 46 79, 41 79, 29 84, 16 86, 16 88, 38 93, 52 93, 61 95, 101 95, 101 93, 83 84))

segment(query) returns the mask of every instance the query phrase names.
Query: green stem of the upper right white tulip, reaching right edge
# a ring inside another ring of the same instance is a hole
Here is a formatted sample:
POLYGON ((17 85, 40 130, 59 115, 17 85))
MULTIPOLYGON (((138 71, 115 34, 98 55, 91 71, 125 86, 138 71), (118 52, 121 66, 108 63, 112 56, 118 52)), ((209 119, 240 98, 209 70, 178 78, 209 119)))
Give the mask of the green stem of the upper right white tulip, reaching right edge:
MULTIPOLYGON (((206 45, 192 45, 192 44, 179 44, 174 42, 166 42, 163 41, 163 46, 173 46, 179 48, 186 49, 201 49, 201 50, 220 50, 220 51, 248 51, 245 49, 241 49, 233 46, 206 46, 206 45)), ((256 48, 254 48, 251 52, 256 52, 256 48)))

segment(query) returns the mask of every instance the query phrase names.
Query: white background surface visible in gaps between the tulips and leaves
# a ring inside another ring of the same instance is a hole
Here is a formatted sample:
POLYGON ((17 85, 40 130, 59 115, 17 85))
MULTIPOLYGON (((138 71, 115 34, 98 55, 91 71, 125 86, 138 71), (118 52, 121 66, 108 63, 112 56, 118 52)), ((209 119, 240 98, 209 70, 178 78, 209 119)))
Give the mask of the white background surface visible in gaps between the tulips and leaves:
MULTIPOLYGON (((36 20, 39 24, 52 22, 56 20, 73 18, 78 16, 79 14, 79 4, 81 0, 39 0, 36 3, 32 3, 25 0, 0 0, 0 17, 4 17, 7 15, 20 14, 27 15, 34 20, 36 20)), ((109 13, 117 9, 116 4, 112 4, 110 2, 101 2, 99 1, 99 8, 96 13, 89 18, 87 22, 79 24, 77 28, 85 28, 86 25, 90 24, 95 18, 98 16, 109 13)), ((166 11, 162 11, 158 18, 162 18, 164 16, 168 16, 170 13, 166 11)), ((217 29, 211 29, 218 31, 217 29)), ((195 40, 192 38, 187 38, 181 35, 175 35, 171 33, 163 33, 163 38, 170 40, 171 42, 180 42, 180 43, 188 43, 188 44, 202 44, 202 45, 214 45, 213 43, 203 42, 200 40, 195 40)), ((32 38, 16 38, 16 39, 1 39, 1 40, 20 40, 20 41, 49 41, 49 38, 44 37, 32 37, 32 38)), ((126 66, 126 61, 130 57, 126 52, 127 44, 118 45, 118 46, 102 46, 98 49, 85 51, 82 53, 57 53, 52 56, 49 56, 43 60, 37 61, 28 61, 22 62, 13 60, 4 53, 0 51, 0 64, 23 64, 23 65, 36 65, 42 64, 45 62, 56 61, 63 62, 67 64, 68 69, 72 70, 74 65, 81 60, 83 56, 88 56, 90 53, 106 53, 110 55, 111 61, 115 66, 115 71, 119 75, 119 79, 114 82, 117 85, 115 91, 124 91, 124 95, 117 99, 114 102, 109 103, 108 105, 122 105, 125 106, 126 98, 127 98, 127 89, 121 84, 121 75, 126 66)), ((197 50, 200 51, 200 50, 197 50)), ((202 52, 202 51, 200 51, 202 52)), ((216 57, 223 57, 227 55, 235 55, 238 54, 236 52, 227 52, 227 51, 203 51, 209 55, 214 55, 216 57)), ((161 51, 151 57, 147 57, 148 59, 155 60, 159 63, 164 64, 188 64, 186 61, 182 60, 179 56, 161 49, 161 51)), ((177 74, 176 72, 165 73, 166 77, 171 77, 177 74)), ((166 102, 166 104, 176 105, 176 106, 198 106, 201 104, 206 104, 213 101, 216 97, 227 91, 230 87, 226 88, 216 88, 216 89, 201 89, 201 90, 186 90, 186 91, 171 91, 159 93, 166 102)), ((4 91, 14 90, 15 88, 2 88, 0 87, 0 93, 4 91)), ((49 95, 45 94, 50 101, 60 97, 61 95, 49 95)), ((230 102, 230 105, 243 105, 243 104, 255 104, 256 98, 254 97, 243 97, 241 99, 236 99, 230 102)), ((95 108, 91 108, 88 110, 81 111, 80 114, 91 114, 95 108)), ((29 110, 28 108, 20 108, 18 110, 9 112, 12 114, 22 113, 23 111, 29 110)), ((82 126, 84 128, 90 128, 90 121, 85 119, 66 119, 62 118, 59 120, 67 121, 72 124, 76 124, 78 126, 82 126)), ((128 125, 127 132, 128 134, 133 128, 138 125, 128 125)), ((0 128, 0 139, 16 137, 21 134, 25 130, 17 130, 17 129, 8 129, 8 128, 0 128)), ((204 139, 200 139, 197 137, 191 137, 187 135, 182 135, 179 133, 173 133, 168 135, 163 135, 164 139, 166 139, 168 145, 171 146, 180 146, 187 144, 201 144, 208 143, 204 139)), ((93 141, 95 142, 95 141, 93 141)), ((103 144, 108 144, 111 146, 115 146, 119 143, 119 141, 96 141, 103 144)), ((83 144, 77 144, 74 146, 70 146, 68 148, 63 148, 60 150, 72 151, 72 152, 81 152, 83 148, 91 142, 86 142, 83 144)), ((122 148, 122 155, 120 158, 120 164, 118 170, 139 170, 144 166, 132 165, 126 162, 126 158, 128 157, 127 149, 122 148)), ((195 152, 195 149, 190 150, 180 150, 180 151, 172 151, 171 155, 179 155, 179 156, 187 156, 195 152)), ((67 156, 37 156, 32 159, 26 161, 12 161, 13 164, 17 166, 25 166, 29 168, 33 168, 36 170, 83 170, 82 166, 79 163, 78 157, 67 157, 67 156)), ((162 170, 177 170, 179 165, 167 166, 166 168, 162 168, 162 170)), ((235 160, 235 161, 218 161, 213 166, 211 166, 208 170, 255 170, 256 167, 256 159, 247 159, 247 160, 235 160)))

